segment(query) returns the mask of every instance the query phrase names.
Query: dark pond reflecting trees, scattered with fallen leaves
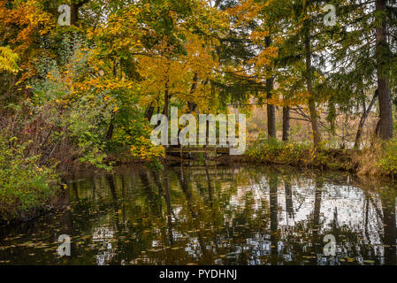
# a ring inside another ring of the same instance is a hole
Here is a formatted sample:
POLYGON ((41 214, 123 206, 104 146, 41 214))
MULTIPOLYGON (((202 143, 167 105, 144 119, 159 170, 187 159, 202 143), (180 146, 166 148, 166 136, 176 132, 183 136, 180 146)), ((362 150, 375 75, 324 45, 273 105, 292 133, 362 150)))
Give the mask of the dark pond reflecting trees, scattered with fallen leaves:
POLYGON ((0 227, 0 264, 396 264, 393 185, 347 173, 191 162, 68 185, 66 210, 0 227))

